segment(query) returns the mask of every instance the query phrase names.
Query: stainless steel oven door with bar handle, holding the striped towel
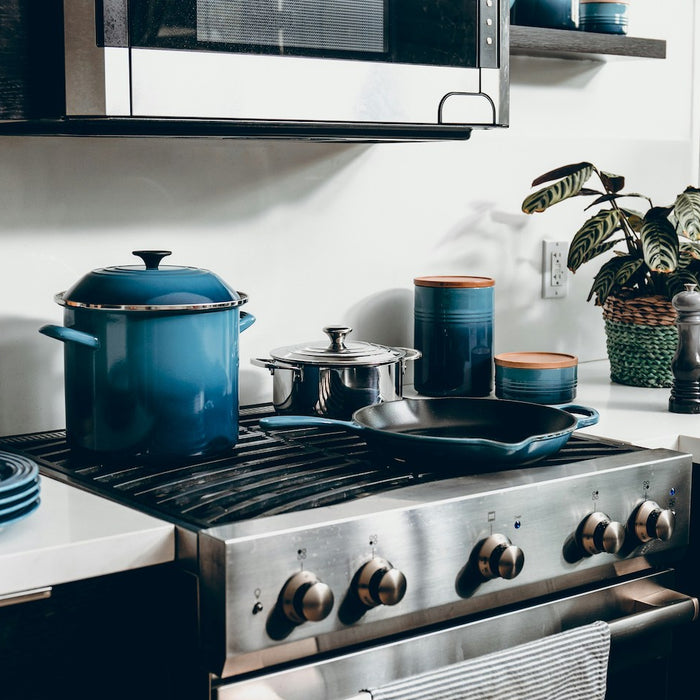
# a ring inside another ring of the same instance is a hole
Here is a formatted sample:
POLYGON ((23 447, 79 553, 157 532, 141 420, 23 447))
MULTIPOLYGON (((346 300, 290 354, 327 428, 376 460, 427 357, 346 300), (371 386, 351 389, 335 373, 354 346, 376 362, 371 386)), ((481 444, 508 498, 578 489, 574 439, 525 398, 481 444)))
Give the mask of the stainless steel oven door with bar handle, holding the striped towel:
POLYGON ((666 698, 673 630, 698 615, 698 601, 670 590, 667 586, 672 582, 673 572, 669 570, 318 663, 239 682, 213 683, 213 697, 371 700, 363 689, 410 681, 412 676, 428 671, 444 669, 449 674, 452 664, 465 659, 602 620, 610 629, 606 700, 631 697, 635 682, 645 697, 666 698))

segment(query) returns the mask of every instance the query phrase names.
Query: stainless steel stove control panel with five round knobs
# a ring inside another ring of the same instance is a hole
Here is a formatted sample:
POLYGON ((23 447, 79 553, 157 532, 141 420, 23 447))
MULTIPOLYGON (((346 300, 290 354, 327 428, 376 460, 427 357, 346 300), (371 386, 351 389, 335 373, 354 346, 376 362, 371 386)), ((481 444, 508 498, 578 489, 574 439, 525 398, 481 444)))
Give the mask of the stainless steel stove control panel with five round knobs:
POLYGON ((691 472, 690 455, 644 450, 205 531, 203 624, 227 635, 230 672, 673 566, 691 472))

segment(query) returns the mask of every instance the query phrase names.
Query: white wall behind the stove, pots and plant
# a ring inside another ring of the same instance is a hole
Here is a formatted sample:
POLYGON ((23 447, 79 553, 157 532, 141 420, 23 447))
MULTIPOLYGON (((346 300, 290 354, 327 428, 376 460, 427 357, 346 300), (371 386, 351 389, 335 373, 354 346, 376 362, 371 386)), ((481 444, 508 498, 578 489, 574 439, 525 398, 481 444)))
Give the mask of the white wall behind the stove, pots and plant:
MULTIPOLYGON (((672 201, 697 184, 695 3, 635 0, 630 34, 666 39, 666 60, 514 57, 511 127, 467 142, 0 138, 0 434, 61 427, 61 321, 53 295, 136 248, 217 272, 250 295, 241 400, 269 400, 249 360, 320 340, 412 342, 413 277, 496 279, 496 350, 605 356, 595 269, 540 298, 541 241, 569 240, 581 203, 520 213, 530 181, 591 160, 628 189, 672 201)), ((135 259, 134 259, 135 260, 135 259)))

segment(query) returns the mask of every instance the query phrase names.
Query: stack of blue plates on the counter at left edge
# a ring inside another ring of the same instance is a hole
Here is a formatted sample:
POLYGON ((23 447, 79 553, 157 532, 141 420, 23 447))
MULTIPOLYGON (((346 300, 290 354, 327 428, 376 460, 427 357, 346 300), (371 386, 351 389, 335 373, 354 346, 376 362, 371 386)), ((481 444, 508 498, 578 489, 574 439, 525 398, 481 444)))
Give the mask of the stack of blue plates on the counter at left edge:
POLYGON ((39 467, 31 459, 0 451, 0 528, 39 507, 39 467))

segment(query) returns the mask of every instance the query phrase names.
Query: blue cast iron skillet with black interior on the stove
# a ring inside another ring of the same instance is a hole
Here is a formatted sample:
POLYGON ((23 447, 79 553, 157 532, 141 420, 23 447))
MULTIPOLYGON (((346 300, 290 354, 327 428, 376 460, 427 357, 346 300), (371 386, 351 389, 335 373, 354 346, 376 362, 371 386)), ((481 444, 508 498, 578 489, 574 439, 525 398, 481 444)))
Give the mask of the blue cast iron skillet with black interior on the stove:
POLYGON ((426 468, 510 467, 537 462, 559 451, 571 434, 598 422, 593 408, 547 406, 492 398, 418 398, 365 406, 352 420, 272 416, 260 427, 339 426, 360 435, 374 450, 426 468), (574 414, 582 414, 577 417, 574 414))

